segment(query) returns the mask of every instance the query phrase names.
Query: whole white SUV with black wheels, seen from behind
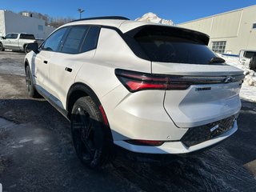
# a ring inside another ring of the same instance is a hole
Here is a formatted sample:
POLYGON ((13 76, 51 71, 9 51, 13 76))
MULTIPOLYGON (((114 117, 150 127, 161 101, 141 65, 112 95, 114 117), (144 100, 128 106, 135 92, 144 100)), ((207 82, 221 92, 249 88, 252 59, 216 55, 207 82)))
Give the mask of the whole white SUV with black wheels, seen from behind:
POLYGON ((194 30, 122 17, 59 27, 26 55, 30 96, 71 122, 78 158, 102 165, 117 145, 186 154, 238 130, 242 70, 226 65, 194 30))

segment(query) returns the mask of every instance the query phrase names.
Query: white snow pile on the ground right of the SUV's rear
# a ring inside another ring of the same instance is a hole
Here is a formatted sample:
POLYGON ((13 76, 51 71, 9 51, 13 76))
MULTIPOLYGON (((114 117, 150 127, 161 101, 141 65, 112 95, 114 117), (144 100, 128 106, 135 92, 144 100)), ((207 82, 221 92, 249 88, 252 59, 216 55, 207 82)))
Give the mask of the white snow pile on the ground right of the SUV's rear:
POLYGON ((222 54, 219 54, 219 57, 225 59, 226 63, 229 64, 230 66, 236 66, 239 69, 244 71, 244 74, 246 75, 246 78, 245 78, 243 84, 245 84, 247 86, 256 86, 256 72, 254 72, 254 70, 250 70, 246 66, 243 66, 239 62, 238 57, 230 57, 230 56, 225 56, 225 55, 222 55, 222 54))

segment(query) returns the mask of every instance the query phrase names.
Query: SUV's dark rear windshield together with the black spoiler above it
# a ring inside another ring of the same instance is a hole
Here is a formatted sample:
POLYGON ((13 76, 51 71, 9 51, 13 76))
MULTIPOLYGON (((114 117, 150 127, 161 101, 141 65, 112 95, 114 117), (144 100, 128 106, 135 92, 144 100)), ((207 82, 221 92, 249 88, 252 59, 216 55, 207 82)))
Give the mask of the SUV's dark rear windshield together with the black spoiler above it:
POLYGON ((148 26, 138 31, 134 39, 152 62, 208 64, 216 57, 207 46, 209 38, 191 30, 148 26))

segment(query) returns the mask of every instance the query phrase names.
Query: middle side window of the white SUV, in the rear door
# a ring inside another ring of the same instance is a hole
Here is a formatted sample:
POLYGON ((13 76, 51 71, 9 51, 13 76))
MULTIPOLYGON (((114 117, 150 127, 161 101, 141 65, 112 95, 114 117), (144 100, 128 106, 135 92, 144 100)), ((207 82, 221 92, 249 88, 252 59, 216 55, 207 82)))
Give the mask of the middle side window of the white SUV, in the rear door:
POLYGON ((62 52, 67 54, 78 54, 82 46, 83 39, 88 33, 90 26, 73 26, 66 37, 62 47, 62 52))

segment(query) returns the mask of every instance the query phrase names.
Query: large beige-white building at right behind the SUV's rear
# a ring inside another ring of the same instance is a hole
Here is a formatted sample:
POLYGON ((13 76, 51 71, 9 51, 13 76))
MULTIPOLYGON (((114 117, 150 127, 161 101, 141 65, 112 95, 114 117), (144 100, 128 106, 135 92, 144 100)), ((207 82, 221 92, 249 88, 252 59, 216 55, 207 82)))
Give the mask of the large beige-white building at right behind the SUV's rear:
POLYGON ((256 6, 178 24, 210 36, 209 46, 218 53, 239 54, 256 50, 256 6))

